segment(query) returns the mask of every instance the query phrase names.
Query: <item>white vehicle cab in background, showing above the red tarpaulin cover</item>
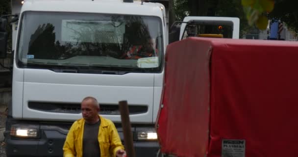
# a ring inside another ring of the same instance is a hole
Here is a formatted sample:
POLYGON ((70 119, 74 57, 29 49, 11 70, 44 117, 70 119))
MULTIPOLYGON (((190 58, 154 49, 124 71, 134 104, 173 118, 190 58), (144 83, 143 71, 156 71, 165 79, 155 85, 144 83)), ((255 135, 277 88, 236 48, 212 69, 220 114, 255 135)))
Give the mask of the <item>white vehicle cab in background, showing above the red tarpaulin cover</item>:
POLYGON ((239 39, 239 31, 239 18, 187 16, 171 26, 169 43, 194 36, 239 39))

